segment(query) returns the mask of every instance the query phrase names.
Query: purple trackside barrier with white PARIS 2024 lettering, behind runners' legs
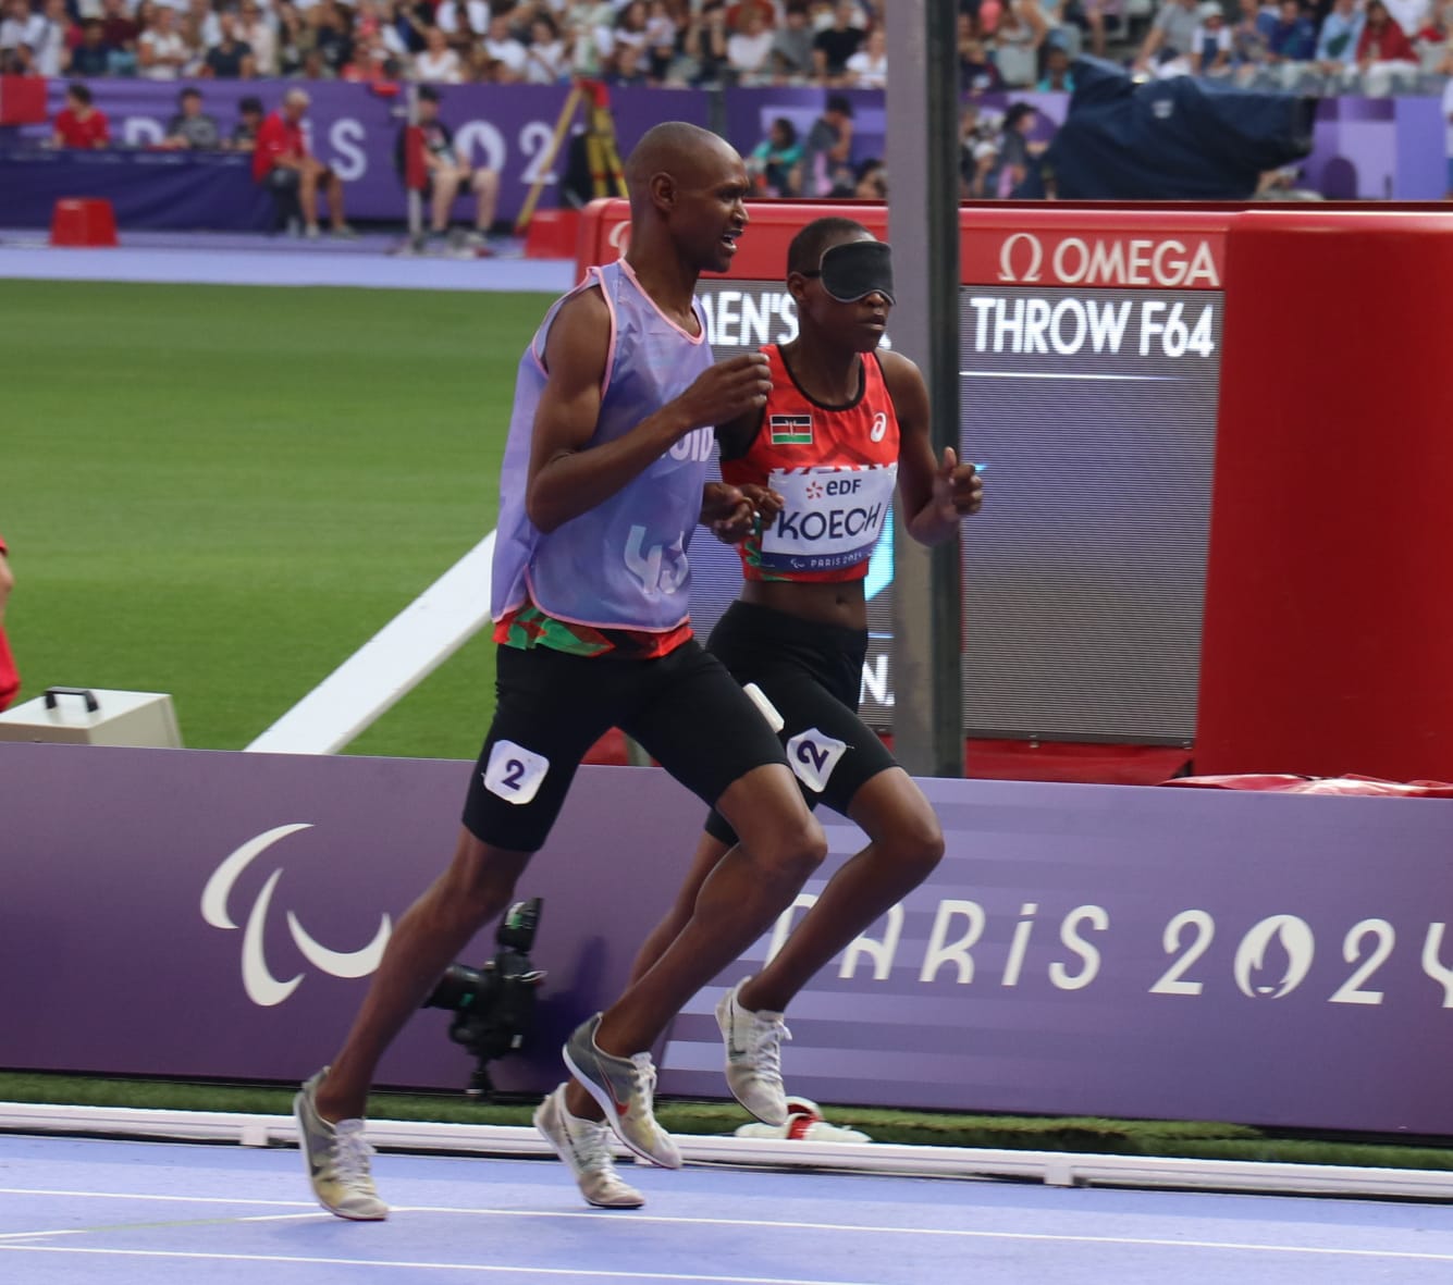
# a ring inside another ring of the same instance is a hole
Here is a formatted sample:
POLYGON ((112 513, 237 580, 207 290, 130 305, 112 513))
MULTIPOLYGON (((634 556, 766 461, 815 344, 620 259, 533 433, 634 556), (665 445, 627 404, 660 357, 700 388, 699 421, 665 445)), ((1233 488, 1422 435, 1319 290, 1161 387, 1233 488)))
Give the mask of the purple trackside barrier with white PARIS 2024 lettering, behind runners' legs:
MULTIPOLYGON (((362 996, 381 916, 452 849, 468 770, 0 745, 0 1064, 312 1070, 362 996)), ((947 857, 793 1005, 793 1090, 1453 1134, 1447 803, 924 784, 947 857)), ((533 1047, 494 1064, 503 1089, 561 1077, 561 1037, 620 986, 700 817, 658 771, 581 772, 519 889, 545 899, 551 976, 533 1047)), ((831 873, 857 832, 824 820, 831 873)), ((485 934, 465 958, 491 952, 485 934)), ((725 1095, 718 993, 673 1027, 664 1093, 725 1095)), ((382 1082, 462 1086, 472 1063, 446 1027, 418 1015, 382 1082)))

